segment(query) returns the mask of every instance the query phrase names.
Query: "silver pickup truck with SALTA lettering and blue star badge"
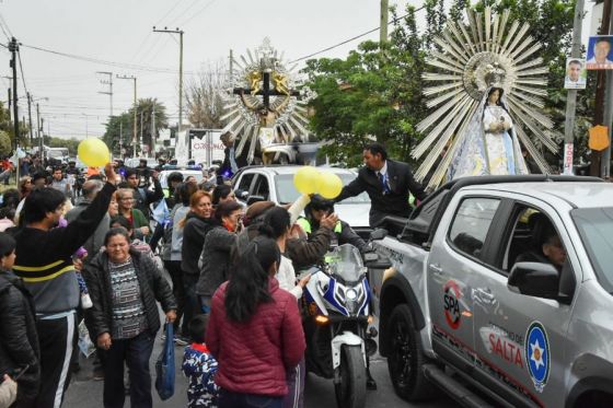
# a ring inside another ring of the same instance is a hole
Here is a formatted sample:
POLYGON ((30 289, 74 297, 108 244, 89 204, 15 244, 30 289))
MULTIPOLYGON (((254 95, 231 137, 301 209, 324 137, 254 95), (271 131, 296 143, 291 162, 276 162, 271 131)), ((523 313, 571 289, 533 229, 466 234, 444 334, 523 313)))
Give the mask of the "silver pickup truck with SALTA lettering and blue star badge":
POLYGON ((613 185, 597 180, 461 178, 374 243, 393 265, 370 277, 398 396, 613 406, 613 185))

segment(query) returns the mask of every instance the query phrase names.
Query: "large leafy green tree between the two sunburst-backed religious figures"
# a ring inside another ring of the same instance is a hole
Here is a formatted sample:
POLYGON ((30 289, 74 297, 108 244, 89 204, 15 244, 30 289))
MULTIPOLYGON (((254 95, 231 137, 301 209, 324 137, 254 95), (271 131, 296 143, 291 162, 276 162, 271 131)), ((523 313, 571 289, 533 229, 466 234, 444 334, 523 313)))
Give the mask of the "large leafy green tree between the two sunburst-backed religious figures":
MULTIPOLYGON (((392 9, 394 20, 395 9, 392 9)), ((311 102, 311 128, 322 140, 322 150, 334 162, 357 165, 362 145, 377 138, 394 156, 409 160, 424 116, 420 73, 425 53, 418 36, 414 8, 396 23, 390 44, 365 42, 347 59, 307 61, 310 86, 317 94, 311 102)))

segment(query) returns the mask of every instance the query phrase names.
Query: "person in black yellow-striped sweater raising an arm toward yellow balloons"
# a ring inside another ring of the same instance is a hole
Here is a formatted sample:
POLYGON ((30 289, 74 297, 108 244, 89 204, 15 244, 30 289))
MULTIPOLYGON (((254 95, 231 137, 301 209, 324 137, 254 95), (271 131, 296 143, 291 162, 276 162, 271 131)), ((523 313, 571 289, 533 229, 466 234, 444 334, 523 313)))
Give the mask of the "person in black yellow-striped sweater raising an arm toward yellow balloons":
POLYGON ((70 384, 68 368, 77 346, 77 307, 81 298, 72 255, 94 234, 108 210, 116 174, 111 163, 104 172, 108 182, 68 226, 55 228, 62 215, 63 194, 35 188, 23 206, 24 226, 13 231, 13 269, 32 293, 36 307, 42 378, 37 408, 60 406, 70 384))

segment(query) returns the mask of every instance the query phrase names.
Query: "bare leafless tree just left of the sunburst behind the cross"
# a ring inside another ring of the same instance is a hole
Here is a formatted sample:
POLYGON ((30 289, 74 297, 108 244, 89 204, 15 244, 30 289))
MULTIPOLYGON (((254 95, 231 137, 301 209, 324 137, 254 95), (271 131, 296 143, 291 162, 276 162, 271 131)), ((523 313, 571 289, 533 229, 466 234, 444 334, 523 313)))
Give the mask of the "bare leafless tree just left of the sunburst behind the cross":
POLYGON ((223 103, 219 90, 228 77, 222 63, 209 65, 197 78, 187 83, 185 100, 187 102, 187 119, 196 128, 218 129, 222 127, 221 115, 223 103))

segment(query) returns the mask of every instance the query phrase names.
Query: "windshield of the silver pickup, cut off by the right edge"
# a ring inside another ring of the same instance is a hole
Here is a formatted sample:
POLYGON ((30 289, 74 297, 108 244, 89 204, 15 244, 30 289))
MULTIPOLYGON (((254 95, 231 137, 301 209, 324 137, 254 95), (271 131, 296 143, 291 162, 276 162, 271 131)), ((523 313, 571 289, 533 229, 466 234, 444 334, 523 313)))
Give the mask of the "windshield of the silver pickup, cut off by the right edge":
POLYGON ((570 211, 600 284, 613 293, 613 207, 570 211))

